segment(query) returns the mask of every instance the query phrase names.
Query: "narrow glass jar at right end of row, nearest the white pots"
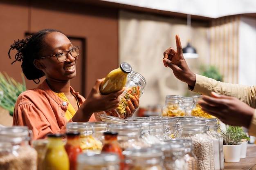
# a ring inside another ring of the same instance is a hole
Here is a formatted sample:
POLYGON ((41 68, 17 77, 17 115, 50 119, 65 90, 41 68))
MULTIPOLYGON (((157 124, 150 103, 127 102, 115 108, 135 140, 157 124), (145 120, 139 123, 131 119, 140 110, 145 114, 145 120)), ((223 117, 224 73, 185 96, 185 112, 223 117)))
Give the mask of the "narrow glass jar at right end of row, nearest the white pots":
POLYGON ((217 118, 206 119, 208 131, 207 133, 213 139, 213 157, 214 169, 224 170, 224 154, 223 154, 223 137, 218 132, 219 124, 217 118))

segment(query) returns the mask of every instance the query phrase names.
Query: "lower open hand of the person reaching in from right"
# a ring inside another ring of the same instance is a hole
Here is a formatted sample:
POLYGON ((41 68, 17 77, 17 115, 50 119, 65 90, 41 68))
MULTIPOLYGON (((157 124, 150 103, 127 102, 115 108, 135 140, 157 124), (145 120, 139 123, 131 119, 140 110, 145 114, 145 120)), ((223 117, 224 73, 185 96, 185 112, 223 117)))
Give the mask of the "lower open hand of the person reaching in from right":
POLYGON ((203 101, 198 102, 203 111, 218 117, 225 124, 249 128, 254 108, 236 97, 219 95, 215 92, 211 92, 211 96, 203 95, 203 101))

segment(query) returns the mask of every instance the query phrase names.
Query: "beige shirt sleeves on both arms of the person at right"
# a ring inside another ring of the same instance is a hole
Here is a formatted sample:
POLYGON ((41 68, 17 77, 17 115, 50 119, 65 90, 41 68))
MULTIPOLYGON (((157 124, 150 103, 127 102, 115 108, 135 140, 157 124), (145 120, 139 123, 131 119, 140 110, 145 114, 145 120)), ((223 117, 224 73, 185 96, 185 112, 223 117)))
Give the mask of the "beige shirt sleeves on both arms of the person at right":
MULTIPOLYGON (((211 91, 214 91, 218 94, 237 97, 249 106, 256 108, 256 86, 224 83, 196 74, 195 87, 192 91, 202 95, 210 95, 211 91)), ((256 110, 248 133, 249 135, 256 136, 256 110)))

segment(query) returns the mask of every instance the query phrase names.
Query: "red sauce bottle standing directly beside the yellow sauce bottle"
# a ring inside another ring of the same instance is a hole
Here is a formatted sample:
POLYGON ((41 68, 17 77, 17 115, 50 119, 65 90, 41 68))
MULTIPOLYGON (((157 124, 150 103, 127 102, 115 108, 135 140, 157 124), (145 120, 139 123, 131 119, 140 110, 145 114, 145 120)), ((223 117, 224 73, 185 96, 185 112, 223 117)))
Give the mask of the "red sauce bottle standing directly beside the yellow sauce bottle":
POLYGON ((65 144, 65 150, 70 160, 70 170, 76 170, 77 155, 83 152, 80 148, 80 132, 66 132, 66 137, 67 143, 65 144))

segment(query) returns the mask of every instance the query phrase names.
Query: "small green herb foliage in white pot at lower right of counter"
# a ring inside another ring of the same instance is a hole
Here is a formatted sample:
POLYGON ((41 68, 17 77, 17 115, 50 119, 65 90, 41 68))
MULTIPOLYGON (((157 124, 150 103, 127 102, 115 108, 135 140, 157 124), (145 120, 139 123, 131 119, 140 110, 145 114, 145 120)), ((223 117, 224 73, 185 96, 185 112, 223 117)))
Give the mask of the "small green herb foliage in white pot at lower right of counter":
POLYGON ((240 126, 226 125, 226 131, 223 134, 223 145, 238 145, 242 139, 249 140, 249 137, 240 126))

